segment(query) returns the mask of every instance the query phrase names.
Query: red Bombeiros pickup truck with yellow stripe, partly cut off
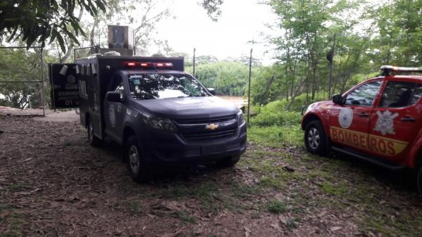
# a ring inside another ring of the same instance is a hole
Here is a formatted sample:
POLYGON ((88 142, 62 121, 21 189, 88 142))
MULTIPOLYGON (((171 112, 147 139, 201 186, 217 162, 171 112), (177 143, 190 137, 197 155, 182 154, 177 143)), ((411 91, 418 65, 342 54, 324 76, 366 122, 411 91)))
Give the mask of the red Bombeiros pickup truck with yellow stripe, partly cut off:
POLYGON ((309 105, 305 146, 317 155, 331 149, 389 169, 416 169, 422 193, 422 68, 381 71, 332 101, 309 105))

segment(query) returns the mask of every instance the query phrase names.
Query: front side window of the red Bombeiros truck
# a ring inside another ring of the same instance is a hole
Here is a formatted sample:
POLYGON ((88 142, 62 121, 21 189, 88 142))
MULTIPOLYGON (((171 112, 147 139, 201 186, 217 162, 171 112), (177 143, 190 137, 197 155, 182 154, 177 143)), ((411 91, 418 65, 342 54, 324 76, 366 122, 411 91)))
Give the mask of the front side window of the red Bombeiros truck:
POLYGON ((383 82, 375 81, 363 84, 347 95, 346 105, 371 106, 383 82))

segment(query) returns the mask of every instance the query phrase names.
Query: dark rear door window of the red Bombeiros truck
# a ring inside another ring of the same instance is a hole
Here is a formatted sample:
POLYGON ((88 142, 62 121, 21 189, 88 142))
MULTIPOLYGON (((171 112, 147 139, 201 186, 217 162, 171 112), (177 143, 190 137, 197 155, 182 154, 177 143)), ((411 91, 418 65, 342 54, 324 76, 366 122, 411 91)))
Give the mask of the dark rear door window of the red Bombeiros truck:
POLYGON ((415 87, 416 83, 414 82, 387 82, 379 107, 399 108, 411 105, 415 87))

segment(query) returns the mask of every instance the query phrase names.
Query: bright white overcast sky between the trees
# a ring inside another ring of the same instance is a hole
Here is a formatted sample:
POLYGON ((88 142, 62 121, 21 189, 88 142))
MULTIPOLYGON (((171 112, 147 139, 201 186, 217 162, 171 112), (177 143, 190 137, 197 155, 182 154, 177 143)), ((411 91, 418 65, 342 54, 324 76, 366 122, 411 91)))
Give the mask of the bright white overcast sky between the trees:
POLYGON ((264 53, 269 47, 262 37, 262 33, 271 33, 265 24, 276 20, 271 8, 258 4, 258 0, 224 0, 221 9, 222 15, 215 23, 198 1, 174 0, 170 11, 175 18, 160 21, 158 39, 167 39, 174 51, 192 55, 196 48, 196 56, 219 59, 249 56, 253 39, 254 58, 261 59, 264 65, 273 62, 272 53, 264 53))

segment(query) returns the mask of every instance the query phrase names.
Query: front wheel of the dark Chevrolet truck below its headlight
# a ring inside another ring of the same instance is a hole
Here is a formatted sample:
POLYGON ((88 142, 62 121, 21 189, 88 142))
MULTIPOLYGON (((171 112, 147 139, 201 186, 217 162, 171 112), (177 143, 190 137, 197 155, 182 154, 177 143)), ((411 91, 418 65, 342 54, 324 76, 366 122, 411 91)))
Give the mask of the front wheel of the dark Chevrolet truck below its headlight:
POLYGON ((151 172, 149 170, 148 162, 143 158, 142 148, 139 145, 136 136, 129 136, 129 139, 127 139, 126 145, 124 146, 124 153, 126 156, 127 170, 132 179, 138 183, 148 181, 151 177, 151 172), (137 157, 135 158, 133 156, 131 159, 131 155, 135 155, 135 152, 137 153, 137 157), (137 162, 137 165, 135 162, 137 162))

